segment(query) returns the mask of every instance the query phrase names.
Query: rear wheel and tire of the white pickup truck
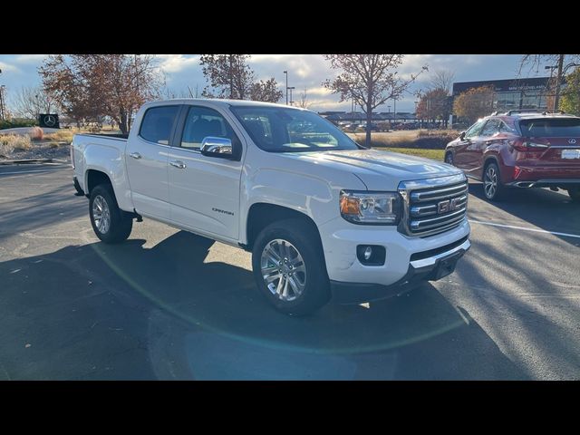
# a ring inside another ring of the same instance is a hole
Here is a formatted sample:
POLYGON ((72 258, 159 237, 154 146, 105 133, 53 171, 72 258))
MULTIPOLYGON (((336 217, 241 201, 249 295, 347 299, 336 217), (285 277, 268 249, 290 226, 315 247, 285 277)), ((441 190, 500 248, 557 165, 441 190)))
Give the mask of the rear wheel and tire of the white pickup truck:
POLYGON ((110 184, 92 189, 89 216, 94 234, 104 243, 121 243, 131 234, 133 218, 119 208, 110 184))

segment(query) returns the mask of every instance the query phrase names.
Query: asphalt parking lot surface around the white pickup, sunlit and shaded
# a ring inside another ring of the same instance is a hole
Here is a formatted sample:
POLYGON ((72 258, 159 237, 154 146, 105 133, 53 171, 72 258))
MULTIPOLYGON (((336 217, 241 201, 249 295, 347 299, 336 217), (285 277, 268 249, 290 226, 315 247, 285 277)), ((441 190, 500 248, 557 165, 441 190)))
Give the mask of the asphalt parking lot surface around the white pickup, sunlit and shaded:
POLYGON ((580 379, 580 206, 565 193, 489 204, 472 183, 455 274, 291 318, 242 250, 150 220, 103 245, 72 176, 0 166, 0 379, 580 379))

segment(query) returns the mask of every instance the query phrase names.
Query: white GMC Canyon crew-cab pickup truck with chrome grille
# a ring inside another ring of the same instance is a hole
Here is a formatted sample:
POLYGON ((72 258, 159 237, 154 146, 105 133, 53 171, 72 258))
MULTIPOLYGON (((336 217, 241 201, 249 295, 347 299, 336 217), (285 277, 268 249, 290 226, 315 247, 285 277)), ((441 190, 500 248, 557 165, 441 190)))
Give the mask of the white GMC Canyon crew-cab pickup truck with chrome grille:
POLYGON ((313 111, 151 102, 128 138, 78 134, 71 154, 103 242, 143 217, 242 247, 286 314, 400 295, 449 275, 470 246, 459 169, 366 150, 313 111))

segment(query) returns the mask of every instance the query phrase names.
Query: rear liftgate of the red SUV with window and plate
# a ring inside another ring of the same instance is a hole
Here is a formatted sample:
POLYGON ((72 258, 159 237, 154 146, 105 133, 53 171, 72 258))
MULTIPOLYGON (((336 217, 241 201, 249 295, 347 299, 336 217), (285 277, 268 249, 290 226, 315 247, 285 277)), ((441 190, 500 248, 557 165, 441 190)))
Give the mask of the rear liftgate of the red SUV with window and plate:
POLYGON ((527 151, 521 157, 537 179, 580 179, 580 118, 519 121, 527 151))

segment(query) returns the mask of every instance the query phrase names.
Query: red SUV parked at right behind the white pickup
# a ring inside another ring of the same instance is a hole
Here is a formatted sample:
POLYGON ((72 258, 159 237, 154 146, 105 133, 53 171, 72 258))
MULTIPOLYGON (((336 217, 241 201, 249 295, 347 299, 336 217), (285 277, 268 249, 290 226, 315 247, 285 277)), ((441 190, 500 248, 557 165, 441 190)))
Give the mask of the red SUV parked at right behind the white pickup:
POLYGON ((483 181, 489 200, 506 188, 566 189, 580 201, 580 118, 565 113, 494 113, 445 148, 445 161, 483 181))

